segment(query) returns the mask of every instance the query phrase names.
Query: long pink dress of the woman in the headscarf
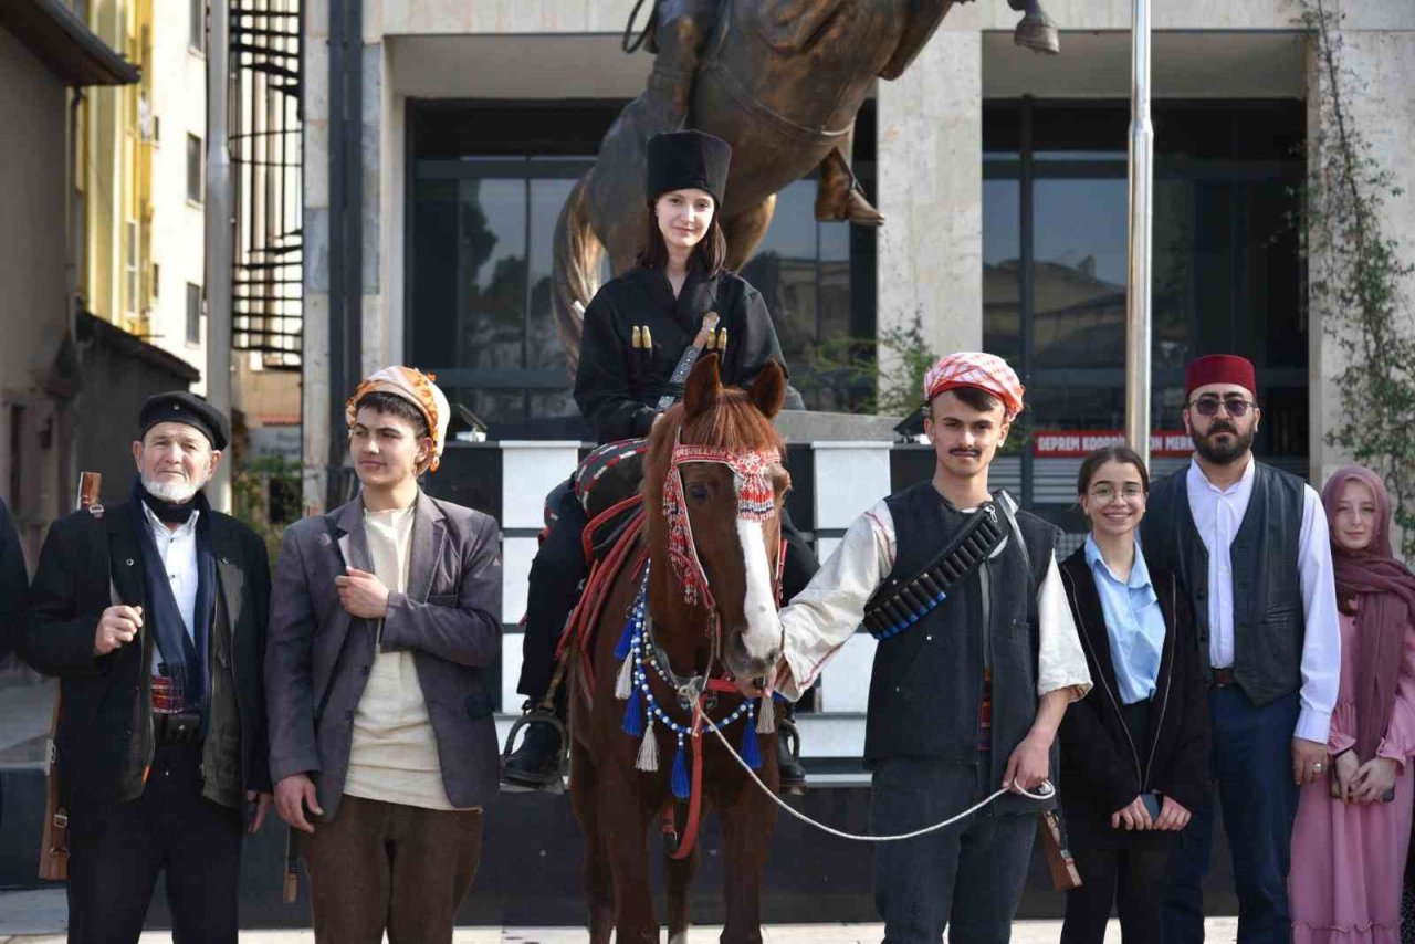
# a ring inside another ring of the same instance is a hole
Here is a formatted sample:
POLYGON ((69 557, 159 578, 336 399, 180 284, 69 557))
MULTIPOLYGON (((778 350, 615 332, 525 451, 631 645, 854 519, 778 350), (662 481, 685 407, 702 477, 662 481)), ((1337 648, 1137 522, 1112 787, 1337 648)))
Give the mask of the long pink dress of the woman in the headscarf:
MULTIPOLYGON (((1356 651, 1356 617, 1341 614, 1341 651, 1356 651)), ((1333 754, 1356 743, 1356 667, 1341 660, 1332 713, 1333 754)), ((1333 800, 1326 777, 1302 788, 1292 829, 1288 910, 1293 944, 1399 944, 1401 886, 1415 798, 1415 633, 1407 630, 1395 710, 1377 750, 1399 764, 1395 802, 1333 800)))

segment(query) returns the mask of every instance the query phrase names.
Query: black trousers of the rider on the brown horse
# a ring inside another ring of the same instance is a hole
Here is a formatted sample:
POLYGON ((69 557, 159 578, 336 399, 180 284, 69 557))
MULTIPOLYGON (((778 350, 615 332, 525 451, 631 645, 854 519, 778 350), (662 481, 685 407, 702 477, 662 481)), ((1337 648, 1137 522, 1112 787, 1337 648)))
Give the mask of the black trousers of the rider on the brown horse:
MULTIPOLYGON (((574 609, 590 568, 584 562, 580 534, 589 524, 584 508, 573 488, 556 488, 548 500, 556 515, 531 562, 529 593, 526 596, 526 630, 521 641, 521 681, 516 691, 533 702, 545 698, 545 689, 555 675, 555 650, 560 644, 565 621, 574 609)), ((805 589, 821 563, 807 539, 781 512, 781 538, 787 542, 787 559, 781 568, 781 597, 790 601, 805 589)))

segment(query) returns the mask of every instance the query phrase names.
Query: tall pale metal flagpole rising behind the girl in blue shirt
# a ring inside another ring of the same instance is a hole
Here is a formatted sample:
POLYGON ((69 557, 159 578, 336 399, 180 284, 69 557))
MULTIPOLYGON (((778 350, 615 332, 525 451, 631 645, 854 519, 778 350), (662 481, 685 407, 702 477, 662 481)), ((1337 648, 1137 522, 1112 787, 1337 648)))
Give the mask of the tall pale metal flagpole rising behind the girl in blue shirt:
POLYGON ((1149 464, 1150 222, 1155 126, 1149 115, 1150 4, 1135 0, 1131 31, 1129 290, 1125 294, 1125 442, 1149 464))

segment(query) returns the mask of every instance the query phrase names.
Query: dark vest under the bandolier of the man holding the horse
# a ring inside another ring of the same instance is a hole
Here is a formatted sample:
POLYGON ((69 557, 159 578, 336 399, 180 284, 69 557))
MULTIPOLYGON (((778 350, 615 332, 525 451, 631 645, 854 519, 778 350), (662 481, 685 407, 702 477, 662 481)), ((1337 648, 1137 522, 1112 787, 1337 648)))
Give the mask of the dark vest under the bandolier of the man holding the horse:
MULTIPOLYGON (((894 518, 894 568, 877 593, 923 570, 968 517, 925 481, 884 500, 894 518)), ((995 783, 1027 736, 1037 713, 1037 589, 1058 531, 1024 511, 1017 525, 1032 572, 1017 542, 954 585, 948 599, 874 651, 865 763, 928 757, 974 764, 985 667, 992 668, 992 752, 983 754, 995 783), (1033 573, 1036 576, 1033 576, 1033 573), (985 624, 986 617, 986 624, 985 624)), ((1006 528, 1006 524, 1003 524, 1006 528)), ((1053 757, 1053 770, 1056 757, 1053 757)), ((1036 802, 1005 797, 998 811, 1036 811, 1036 802), (1010 810, 1016 807, 1016 810, 1010 810)))

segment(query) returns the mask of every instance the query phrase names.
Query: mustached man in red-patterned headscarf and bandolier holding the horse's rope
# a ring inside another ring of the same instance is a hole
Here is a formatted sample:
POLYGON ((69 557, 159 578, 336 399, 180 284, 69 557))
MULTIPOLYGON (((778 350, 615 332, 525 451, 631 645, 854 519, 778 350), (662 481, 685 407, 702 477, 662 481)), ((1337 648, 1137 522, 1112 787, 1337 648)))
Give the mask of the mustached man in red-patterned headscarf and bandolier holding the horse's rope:
POLYGON ((1023 409, 1006 361, 965 352, 924 379, 930 481, 855 519, 781 611, 775 685, 797 699, 862 623, 879 640, 865 761, 872 832, 962 822, 879 846, 874 896, 890 944, 1006 941, 1067 705, 1091 688, 1056 565, 1058 531, 990 493, 988 468, 1023 409))

